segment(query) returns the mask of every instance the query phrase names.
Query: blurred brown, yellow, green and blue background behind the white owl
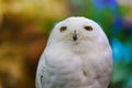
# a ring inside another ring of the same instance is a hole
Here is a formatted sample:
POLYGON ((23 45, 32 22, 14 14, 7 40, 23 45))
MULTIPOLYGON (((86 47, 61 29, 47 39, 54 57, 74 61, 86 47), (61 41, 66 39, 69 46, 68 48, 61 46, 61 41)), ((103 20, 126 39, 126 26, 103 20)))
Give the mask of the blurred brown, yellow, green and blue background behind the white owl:
POLYGON ((0 88, 35 88, 50 32, 72 15, 97 21, 109 37, 109 88, 132 88, 132 0, 0 0, 0 88))

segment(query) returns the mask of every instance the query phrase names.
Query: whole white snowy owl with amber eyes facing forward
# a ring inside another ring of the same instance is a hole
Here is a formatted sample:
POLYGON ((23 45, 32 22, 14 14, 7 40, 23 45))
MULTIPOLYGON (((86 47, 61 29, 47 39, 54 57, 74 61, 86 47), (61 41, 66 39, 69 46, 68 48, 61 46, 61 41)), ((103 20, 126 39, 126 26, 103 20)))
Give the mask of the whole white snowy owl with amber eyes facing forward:
POLYGON ((108 88, 112 55, 98 23, 82 16, 53 29, 36 70, 36 88, 108 88))

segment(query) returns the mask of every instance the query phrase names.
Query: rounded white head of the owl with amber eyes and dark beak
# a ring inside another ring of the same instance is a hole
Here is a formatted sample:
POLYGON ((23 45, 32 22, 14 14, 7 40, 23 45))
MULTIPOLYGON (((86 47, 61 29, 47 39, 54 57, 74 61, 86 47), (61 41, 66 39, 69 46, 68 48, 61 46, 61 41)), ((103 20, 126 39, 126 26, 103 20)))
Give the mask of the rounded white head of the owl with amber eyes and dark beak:
POLYGON ((98 23, 84 16, 72 16, 61 21, 53 29, 50 44, 107 44, 108 38, 98 23))

